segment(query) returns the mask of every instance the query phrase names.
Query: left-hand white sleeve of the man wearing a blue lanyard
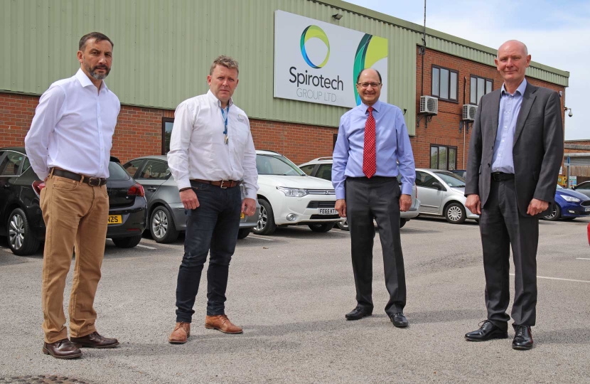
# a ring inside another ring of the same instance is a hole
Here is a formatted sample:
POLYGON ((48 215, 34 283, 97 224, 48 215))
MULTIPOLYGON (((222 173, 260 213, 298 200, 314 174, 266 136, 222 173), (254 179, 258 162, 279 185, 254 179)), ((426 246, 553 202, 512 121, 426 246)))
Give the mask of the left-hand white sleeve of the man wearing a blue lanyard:
POLYGON ((196 114, 197 111, 190 102, 182 102, 174 112, 168 166, 179 190, 191 186, 188 175, 188 144, 191 143, 196 114))

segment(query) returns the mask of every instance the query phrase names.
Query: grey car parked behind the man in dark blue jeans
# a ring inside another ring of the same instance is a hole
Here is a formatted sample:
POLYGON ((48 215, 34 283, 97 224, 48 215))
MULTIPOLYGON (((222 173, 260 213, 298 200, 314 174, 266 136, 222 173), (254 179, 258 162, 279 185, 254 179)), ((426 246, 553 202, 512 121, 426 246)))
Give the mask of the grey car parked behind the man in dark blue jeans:
MULTIPOLYGON (((146 190, 149 233, 156 242, 173 242, 186 230, 186 214, 176 181, 164 155, 144 156, 127 161, 123 168, 146 190)), ((243 186, 240 186, 243 191, 243 186)), ((243 192, 242 192, 243 193, 243 192)), ((238 239, 246 238, 258 223, 259 206, 252 216, 242 213, 238 239)))

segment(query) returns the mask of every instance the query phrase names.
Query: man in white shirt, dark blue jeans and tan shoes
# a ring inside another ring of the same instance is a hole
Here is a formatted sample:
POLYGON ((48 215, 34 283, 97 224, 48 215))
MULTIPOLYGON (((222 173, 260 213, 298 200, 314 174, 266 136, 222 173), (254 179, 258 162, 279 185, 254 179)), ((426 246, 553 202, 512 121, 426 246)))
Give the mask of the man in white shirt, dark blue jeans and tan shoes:
POLYGON ((211 65, 205 95, 176 108, 168 166, 186 209, 184 256, 176 285, 176 326, 168 341, 186 343, 200 274, 209 254, 205 328, 241 334, 225 315, 225 289, 240 215, 256 210, 258 173, 250 121, 232 102, 237 62, 219 56, 211 65), (244 185, 242 199, 240 183, 244 185))

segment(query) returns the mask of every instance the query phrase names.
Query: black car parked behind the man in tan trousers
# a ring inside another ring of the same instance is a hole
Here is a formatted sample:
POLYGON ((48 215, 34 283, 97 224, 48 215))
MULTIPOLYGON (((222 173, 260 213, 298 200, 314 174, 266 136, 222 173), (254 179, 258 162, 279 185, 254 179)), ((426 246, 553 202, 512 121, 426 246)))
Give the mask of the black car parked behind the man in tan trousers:
MULTIPOLYGON (((135 247, 146 228, 144 188, 111 157, 109 161, 109 226, 107 238, 117 247, 135 247)), ((41 181, 23 147, 0 148, 0 234, 15 255, 32 255, 45 240, 39 207, 41 181)))

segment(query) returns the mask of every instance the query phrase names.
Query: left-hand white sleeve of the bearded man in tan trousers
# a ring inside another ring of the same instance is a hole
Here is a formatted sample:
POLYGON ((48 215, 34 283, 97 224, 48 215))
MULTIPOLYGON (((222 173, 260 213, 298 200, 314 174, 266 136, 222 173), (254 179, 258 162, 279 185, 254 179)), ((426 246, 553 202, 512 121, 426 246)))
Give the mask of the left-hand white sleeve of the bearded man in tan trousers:
POLYGON ((55 130, 55 124, 61 119, 65 92, 58 85, 53 85, 46 90, 39 99, 39 105, 35 110, 31 129, 25 137, 25 150, 33 171, 41 178, 49 175, 47 160, 49 156, 49 136, 55 130))

